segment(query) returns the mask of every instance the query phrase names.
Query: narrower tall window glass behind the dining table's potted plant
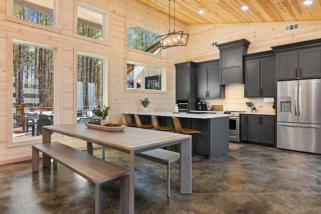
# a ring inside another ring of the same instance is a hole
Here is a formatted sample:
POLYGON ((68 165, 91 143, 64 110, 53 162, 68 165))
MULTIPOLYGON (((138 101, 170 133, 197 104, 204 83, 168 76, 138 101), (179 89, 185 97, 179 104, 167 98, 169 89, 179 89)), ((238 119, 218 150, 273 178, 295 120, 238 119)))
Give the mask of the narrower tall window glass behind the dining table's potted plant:
POLYGON ((83 113, 103 106, 104 60, 84 54, 77 57, 77 111, 83 113))

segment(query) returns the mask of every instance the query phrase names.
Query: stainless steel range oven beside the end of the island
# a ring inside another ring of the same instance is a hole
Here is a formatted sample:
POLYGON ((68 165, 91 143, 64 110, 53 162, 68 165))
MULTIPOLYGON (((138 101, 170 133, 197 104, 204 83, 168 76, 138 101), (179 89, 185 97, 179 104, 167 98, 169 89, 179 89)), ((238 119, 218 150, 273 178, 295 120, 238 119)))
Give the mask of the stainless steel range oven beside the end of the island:
POLYGON ((224 111, 224 114, 229 114, 229 140, 240 142, 240 112, 239 111, 224 111))

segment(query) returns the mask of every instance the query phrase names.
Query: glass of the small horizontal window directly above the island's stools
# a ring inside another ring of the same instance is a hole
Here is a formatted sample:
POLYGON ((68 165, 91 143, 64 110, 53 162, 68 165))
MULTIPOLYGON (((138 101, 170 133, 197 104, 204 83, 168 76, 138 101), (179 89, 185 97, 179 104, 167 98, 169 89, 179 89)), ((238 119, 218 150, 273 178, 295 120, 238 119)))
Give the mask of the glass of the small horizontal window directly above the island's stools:
POLYGON ((127 63, 127 88, 164 90, 163 68, 127 63))

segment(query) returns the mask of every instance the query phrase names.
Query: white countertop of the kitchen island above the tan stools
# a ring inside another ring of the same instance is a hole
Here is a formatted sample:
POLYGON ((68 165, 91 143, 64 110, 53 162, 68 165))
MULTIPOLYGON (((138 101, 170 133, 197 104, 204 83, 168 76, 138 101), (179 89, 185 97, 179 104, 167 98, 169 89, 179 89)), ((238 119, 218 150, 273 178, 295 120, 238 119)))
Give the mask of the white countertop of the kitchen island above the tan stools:
POLYGON ((124 112, 124 114, 137 114, 137 115, 147 115, 147 116, 163 116, 163 117, 184 117, 184 118, 195 118, 195 119, 210 119, 218 117, 229 117, 227 114, 187 114, 187 113, 173 113, 169 111, 153 111, 153 112, 124 112))

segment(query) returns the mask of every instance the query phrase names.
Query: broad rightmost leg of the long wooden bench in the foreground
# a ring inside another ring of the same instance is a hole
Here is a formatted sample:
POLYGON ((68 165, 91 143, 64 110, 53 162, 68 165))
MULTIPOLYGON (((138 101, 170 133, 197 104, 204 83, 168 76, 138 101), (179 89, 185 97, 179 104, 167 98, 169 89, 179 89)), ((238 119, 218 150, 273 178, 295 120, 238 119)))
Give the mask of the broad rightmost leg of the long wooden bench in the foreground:
POLYGON ((119 213, 129 213, 129 174, 120 179, 119 213))

